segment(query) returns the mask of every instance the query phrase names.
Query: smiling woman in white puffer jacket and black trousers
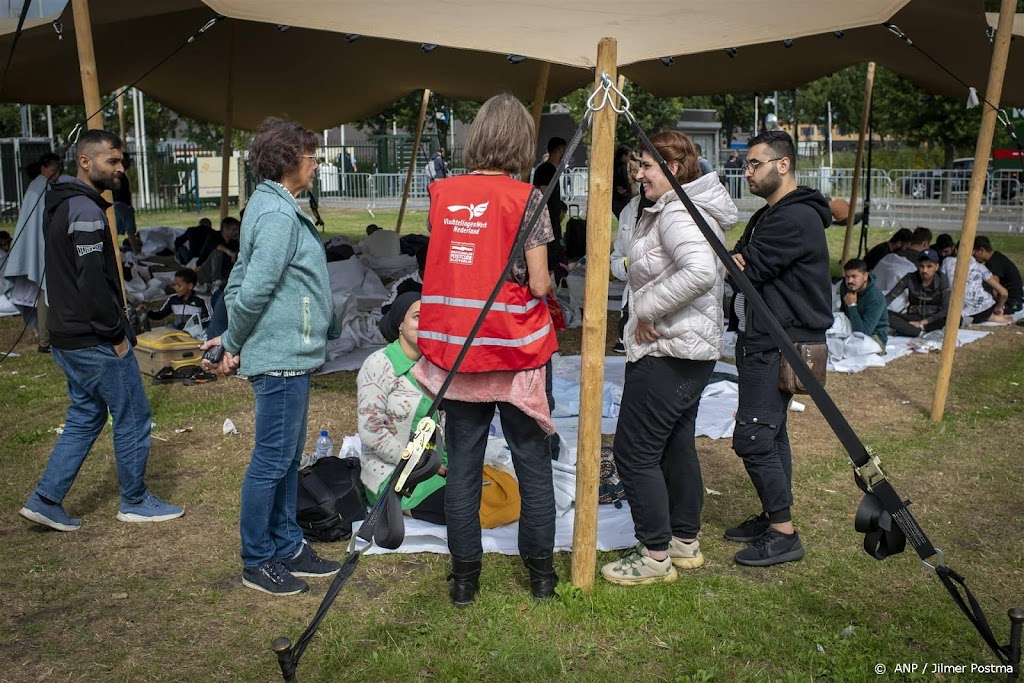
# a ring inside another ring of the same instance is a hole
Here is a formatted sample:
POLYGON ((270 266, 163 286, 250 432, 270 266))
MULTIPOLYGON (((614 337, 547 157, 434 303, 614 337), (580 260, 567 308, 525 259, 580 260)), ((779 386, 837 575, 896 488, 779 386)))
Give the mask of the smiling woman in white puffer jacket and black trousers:
MULTIPOLYGON (((651 142, 722 241, 737 211, 718 175, 700 175, 696 148, 680 132, 651 142)), ((637 180, 656 201, 630 246, 628 364, 613 450, 639 544, 601 569, 625 586, 675 581, 676 567, 703 564, 694 431, 700 394, 722 353, 725 288, 725 266, 646 152, 637 180)))

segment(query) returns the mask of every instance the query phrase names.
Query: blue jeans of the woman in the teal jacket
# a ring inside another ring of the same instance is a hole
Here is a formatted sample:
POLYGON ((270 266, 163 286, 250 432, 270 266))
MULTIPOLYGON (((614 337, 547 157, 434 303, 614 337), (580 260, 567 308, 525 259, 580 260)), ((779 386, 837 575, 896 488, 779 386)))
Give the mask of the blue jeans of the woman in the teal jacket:
POLYGON ((255 569, 287 559, 302 545, 295 520, 299 461, 306 442, 310 375, 250 378, 256 395, 256 444, 242 482, 242 561, 255 569))

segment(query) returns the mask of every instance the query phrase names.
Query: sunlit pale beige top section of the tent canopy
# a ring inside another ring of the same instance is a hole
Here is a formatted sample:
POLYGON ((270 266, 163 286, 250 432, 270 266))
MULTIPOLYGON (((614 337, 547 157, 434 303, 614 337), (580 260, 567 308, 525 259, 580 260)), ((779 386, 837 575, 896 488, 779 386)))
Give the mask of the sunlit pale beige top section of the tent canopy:
POLYGON ((592 67, 615 39, 617 63, 881 24, 907 0, 206 0, 227 16, 592 67))

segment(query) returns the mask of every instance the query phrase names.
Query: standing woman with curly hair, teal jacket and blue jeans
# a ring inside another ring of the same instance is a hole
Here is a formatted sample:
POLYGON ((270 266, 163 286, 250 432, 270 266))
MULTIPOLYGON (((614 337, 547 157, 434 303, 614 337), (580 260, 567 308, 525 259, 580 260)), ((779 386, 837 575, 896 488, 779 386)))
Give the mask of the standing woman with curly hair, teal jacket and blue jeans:
POLYGON ((340 334, 324 245, 295 201, 312 187, 316 146, 314 133, 281 119, 256 131, 249 163, 260 183, 224 294, 227 330, 203 345, 222 346, 216 370, 238 370, 256 396, 256 443, 242 484, 242 584, 272 595, 301 593, 309 587, 299 577, 341 568, 306 545, 295 519, 310 377, 340 334))

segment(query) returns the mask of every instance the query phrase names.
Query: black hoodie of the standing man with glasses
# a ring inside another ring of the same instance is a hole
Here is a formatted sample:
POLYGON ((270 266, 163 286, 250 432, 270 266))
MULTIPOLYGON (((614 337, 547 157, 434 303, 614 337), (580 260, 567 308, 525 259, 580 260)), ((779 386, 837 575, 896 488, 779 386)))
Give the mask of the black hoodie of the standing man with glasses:
MULTIPOLYGON (((831 327, 831 279, 825 227, 828 203, 816 189, 798 187, 751 216, 734 253, 744 274, 795 342, 824 342, 831 327)), ((778 348, 748 302, 743 353, 778 348)))

